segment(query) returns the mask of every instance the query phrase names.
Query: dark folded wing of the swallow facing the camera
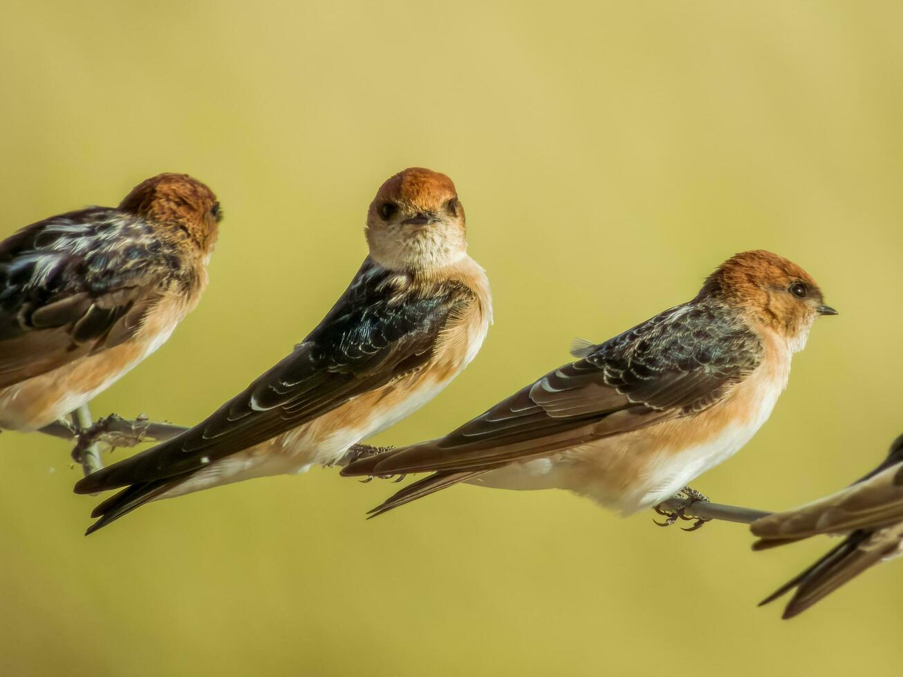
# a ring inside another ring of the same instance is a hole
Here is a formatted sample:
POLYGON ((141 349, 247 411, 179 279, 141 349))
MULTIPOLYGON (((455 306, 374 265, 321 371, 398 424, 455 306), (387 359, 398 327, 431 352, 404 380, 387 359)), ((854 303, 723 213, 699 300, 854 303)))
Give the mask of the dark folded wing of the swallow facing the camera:
POLYGON ((76 492, 181 481, 424 366, 449 315, 470 300, 470 292, 447 283, 418 296, 396 281, 396 274, 368 259, 289 356, 191 430, 82 479, 76 492))

